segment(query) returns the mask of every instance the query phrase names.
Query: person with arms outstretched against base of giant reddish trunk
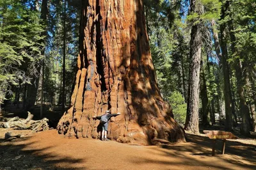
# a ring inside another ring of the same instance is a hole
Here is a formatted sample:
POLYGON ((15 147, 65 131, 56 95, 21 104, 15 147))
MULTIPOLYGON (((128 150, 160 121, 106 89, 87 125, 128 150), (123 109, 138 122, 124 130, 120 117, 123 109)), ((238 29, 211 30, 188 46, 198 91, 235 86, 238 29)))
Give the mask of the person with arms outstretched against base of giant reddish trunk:
POLYGON ((101 140, 102 141, 108 141, 107 139, 107 133, 108 133, 108 121, 111 117, 117 116, 121 114, 120 112, 116 114, 110 114, 110 111, 106 111, 105 114, 101 116, 93 116, 92 118, 95 120, 100 120, 100 125, 102 126, 102 132, 101 132, 101 140))

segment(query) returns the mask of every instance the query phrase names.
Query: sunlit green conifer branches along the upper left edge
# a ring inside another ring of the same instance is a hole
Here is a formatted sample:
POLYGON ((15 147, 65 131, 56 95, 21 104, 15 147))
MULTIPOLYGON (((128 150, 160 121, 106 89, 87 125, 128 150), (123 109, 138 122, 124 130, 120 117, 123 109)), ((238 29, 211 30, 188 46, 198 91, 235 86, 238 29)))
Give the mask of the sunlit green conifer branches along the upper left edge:
POLYGON ((11 86, 38 74, 43 27, 40 15, 19 0, 0 0, 0 103, 11 86))

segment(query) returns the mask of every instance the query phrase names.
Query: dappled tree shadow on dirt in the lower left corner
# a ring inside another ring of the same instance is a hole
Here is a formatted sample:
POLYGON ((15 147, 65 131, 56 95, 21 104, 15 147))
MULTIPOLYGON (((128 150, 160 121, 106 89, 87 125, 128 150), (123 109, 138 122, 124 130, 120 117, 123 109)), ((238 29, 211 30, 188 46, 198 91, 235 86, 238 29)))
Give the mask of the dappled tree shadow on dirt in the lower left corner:
POLYGON ((32 145, 36 142, 28 142, 30 138, 13 141, 0 139, 0 169, 85 169, 72 166, 82 162, 81 158, 49 152, 54 146, 35 149, 32 145), (27 141, 26 144, 24 141, 27 141))

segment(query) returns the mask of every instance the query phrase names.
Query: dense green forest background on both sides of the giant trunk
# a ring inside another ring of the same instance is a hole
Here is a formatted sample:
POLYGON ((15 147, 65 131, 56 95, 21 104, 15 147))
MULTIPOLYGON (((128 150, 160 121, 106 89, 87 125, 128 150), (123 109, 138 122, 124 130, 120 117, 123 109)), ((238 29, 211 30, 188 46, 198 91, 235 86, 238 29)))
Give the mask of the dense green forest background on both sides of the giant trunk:
MULTIPOLYGON (((186 130, 256 131, 256 3, 144 0, 157 83, 186 130)), ((81 0, 0 0, 0 103, 40 116, 69 105, 81 0)))

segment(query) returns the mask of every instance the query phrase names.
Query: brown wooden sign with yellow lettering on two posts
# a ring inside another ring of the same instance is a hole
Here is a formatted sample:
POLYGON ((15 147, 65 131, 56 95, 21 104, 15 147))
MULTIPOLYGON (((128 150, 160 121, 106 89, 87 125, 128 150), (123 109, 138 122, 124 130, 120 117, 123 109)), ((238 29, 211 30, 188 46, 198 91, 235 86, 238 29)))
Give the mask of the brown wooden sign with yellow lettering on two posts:
POLYGON ((220 130, 204 130, 205 135, 207 135, 212 140, 212 156, 215 155, 215 144, 216 139, 223 140, 223 147, 222 147, 222 154, 225 153, 225 146, 226 146, 226 139, 237 139, 236 135, 232 134, 231 132, 225 132, 220 130))

